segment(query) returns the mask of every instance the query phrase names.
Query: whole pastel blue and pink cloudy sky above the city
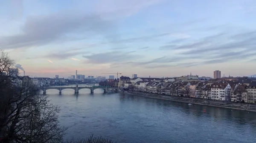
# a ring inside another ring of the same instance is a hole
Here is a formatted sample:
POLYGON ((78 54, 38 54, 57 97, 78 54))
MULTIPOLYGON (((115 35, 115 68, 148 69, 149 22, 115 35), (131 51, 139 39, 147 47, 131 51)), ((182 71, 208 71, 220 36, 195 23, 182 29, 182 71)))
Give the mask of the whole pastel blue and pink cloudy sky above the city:
POLYGON ((256 74, 255 0, 0 3, 0 49, 29 76, 256 74))

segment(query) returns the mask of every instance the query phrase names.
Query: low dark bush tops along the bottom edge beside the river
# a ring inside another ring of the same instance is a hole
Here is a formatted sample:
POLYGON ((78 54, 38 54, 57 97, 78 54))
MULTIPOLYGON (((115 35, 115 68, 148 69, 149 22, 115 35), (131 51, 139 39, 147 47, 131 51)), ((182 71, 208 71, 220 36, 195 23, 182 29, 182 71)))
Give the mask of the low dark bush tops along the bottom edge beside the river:
POLYGON ((86 138, 86 139, 70 139, 70 140, 66 140, 64 143, 116 143, 113 140, 106 138, 106 137, 102 137, 102 136, 98 136, 95 137, 93 135, 91 135, 90 137, 86 138))

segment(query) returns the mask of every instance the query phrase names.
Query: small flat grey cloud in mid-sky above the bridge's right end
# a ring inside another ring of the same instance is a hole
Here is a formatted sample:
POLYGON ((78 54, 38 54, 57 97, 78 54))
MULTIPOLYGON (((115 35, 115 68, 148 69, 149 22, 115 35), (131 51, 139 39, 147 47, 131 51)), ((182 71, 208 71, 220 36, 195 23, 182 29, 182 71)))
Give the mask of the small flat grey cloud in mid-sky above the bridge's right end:
POLYGON ((133 59, 138 59, 138 57, 143 57, 140 55, 131 54, 134 51, 130 52, 120 52, 120 51, 111 51, 107 53, 96 53, 90 56, 83 56, 88 61, 87 63, 91 64, 106 64, 106 63, 118 63, 118 62, 129 62, 133 59))

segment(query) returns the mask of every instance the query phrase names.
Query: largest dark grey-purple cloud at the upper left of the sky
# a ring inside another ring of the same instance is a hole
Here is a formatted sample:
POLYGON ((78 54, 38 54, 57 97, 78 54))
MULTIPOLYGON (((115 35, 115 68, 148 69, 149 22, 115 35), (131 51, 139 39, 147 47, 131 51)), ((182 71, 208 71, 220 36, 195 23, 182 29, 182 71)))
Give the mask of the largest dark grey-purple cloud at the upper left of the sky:
MULTIPOLYGON (((99 15, 57 13, 30 16, 23 25, 21 34, 0 37, 4 49, 46 45, 52 42, 81 40, 115 31, 112 21, 104 21, 99 15)), ((113 40, 113 39, 111 39, 113 40)))

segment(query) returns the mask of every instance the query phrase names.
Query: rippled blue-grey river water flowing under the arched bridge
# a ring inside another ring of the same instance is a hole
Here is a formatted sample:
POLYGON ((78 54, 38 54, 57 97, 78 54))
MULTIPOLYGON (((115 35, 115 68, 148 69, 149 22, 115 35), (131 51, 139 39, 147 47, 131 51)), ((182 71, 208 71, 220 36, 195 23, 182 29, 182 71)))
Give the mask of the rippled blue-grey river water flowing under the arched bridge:
POLYGON ((256 143, 256 112, 188 105, 103 90, 47 90, 61 107, 65 138, 102 135, 118 143, 256 143), (206 112, 204 112, 204 110, 206 112))

